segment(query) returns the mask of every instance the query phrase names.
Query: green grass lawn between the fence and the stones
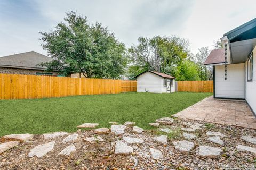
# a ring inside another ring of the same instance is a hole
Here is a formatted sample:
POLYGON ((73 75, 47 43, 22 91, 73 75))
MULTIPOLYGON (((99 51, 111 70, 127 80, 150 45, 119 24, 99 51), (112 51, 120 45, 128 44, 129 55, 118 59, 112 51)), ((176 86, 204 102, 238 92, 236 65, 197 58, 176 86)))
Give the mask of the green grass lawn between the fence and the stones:
POLYGON ((0 100, 0 136, 12 133, 75 132, 89 122, 109 127, 109 121, 134 121, 141 128, 156 118, 170 117, 211 93, 129 92, 62 98, 0 100))

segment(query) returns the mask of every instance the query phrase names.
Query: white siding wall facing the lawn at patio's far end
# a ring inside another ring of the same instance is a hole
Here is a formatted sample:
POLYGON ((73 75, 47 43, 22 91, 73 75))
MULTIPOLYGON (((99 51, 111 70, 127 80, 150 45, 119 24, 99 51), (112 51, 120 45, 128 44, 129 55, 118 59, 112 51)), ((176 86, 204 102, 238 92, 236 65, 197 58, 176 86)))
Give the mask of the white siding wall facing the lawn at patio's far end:
POLYGON ((225 80, 225 65, 215 66, 215 97, 245 98, 244 63, 227 65, 227 80, 225 80))

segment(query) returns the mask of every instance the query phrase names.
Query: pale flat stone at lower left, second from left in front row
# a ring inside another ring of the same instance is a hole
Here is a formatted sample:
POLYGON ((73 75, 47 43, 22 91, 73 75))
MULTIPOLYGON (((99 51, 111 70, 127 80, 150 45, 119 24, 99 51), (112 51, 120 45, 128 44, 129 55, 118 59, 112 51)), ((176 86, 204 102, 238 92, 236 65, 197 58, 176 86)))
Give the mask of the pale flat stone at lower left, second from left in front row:
POLYGON ((33 156, 36 156, 37 158, 41 158, 45 156, 48 152, 52 151, 54 145, 55 145, 55 141, 38 145, 35 148, 30 150, 28 157, 31 158, 33 156))

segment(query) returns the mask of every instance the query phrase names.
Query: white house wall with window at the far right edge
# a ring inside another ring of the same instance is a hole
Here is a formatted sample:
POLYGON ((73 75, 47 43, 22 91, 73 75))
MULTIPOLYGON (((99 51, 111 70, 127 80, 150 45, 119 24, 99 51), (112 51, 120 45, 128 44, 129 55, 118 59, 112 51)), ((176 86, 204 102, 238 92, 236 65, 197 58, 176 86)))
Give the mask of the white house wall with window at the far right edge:
POLYGON ((245 63, 245 99, 251 106, 254 113, 256 113, 256 47, 253 49, 253 66, 252 66, 252 81, 247 81, 247 62, 245 63))

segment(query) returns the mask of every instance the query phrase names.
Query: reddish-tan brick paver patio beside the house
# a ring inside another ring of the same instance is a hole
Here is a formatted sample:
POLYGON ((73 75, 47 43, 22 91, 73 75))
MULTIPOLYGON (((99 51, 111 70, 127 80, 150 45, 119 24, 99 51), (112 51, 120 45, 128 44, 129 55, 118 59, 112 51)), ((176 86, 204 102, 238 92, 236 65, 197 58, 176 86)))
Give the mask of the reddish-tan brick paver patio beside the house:
POLYGON ((219 100, 213 96, 172 116, 256 129, 256 118, 245 101, 219 100))

